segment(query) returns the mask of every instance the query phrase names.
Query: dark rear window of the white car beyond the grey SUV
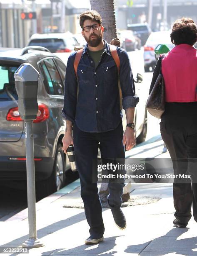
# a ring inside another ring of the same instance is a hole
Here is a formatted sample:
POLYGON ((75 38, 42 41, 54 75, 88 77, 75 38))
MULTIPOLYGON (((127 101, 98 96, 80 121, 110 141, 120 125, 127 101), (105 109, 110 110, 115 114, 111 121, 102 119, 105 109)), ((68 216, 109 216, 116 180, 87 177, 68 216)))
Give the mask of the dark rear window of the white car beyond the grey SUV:
POLYGON ((63 39, 60 38, 40 38, 32 39, 28 46, 42 46, 49 49, 51 52, 56 52, 58 49, 65 48, 63 39))

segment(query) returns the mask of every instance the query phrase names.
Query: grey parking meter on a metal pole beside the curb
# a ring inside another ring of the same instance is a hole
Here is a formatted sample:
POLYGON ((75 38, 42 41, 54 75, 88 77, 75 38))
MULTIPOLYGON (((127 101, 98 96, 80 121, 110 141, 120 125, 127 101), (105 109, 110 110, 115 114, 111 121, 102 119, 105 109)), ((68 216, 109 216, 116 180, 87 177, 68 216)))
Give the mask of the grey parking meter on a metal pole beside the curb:
POLYGON ((27 204, 29 238, 22 243, 23 248, 44 246, 37 239, 36 209, 35 209, 35 168, 33 144, 33 120, 38 112, 37 87, 39 72, 29 63, 20 65, 14 74, 15 87, 18 95, 18 111, 25 121, 26 166, 27 166, 27 204))

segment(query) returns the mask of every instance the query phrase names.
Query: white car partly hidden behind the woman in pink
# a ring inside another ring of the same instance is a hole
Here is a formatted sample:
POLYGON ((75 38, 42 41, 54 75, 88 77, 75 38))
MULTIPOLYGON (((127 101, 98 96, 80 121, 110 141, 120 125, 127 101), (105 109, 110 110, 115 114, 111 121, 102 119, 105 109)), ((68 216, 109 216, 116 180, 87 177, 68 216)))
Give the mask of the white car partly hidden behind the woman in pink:
POLYGON ((147 42, 144 46, 144 67, 145 72, 150 71, 150 67, 152 71, 156 64, 155 59, 155 47, 158 44, 166 44, 167 47, 171 50, 175 45, 172 44, 170 40, 170 33, 171 31, 159 31, 159 32, 152 32, 147 39, 147 42))

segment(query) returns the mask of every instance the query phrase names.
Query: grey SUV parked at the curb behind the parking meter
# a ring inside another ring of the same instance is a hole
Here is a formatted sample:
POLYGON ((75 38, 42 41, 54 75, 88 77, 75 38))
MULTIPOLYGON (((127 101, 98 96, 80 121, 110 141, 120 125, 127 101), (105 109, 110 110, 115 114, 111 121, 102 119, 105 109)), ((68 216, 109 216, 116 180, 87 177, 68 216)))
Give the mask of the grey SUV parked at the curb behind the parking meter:
POLYGON ((33 129, 36 194, 43 197, 65 184, 67 157, 62 151, 65 121, 61 110, 66 66, 47 49, 32 48, 0 49, 0 181, 26 180, 24 122, 18 113, 13 75, 22 63, 30 63, 40 73, 39 110, 33 129))

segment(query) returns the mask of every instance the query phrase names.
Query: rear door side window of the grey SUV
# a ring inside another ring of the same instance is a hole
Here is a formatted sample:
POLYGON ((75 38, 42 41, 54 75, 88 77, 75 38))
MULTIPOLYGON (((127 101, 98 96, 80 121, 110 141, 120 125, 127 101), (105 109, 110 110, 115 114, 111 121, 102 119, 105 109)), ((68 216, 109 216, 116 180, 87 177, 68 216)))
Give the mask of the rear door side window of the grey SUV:
POLYGON ((59 72, 52 59, 45 59, 42 62, 42 68, 45 73, 49 92, 52 95, 64 95, 64 87, 59 72))

